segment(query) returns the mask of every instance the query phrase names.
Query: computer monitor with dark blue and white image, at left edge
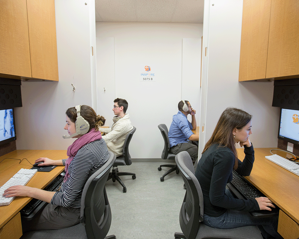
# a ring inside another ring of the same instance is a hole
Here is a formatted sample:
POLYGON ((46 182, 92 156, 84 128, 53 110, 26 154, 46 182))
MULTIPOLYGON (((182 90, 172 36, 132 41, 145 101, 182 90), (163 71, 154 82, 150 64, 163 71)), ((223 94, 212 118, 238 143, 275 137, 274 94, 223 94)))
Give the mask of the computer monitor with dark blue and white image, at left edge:
POLYGON ((13 109, 0 110, 0 145, 16 140, 13 109))

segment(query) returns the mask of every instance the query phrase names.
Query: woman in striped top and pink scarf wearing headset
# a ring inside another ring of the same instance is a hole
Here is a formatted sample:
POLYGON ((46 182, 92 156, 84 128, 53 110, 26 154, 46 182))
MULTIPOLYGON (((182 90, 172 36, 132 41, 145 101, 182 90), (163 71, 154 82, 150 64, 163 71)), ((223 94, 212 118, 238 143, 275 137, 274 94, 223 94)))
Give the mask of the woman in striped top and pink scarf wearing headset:
POLYGON ((33 197, 49 204, 30 221, 22 220, 23 232, 31 230, 61 229, 79 223, 81 196, 88 178, 109 158, 108 149, 98 126, 105 119, 87 105, 77 105, 66 111, 64 129, 77 138, 68 147, 67 159, 51 160, 39 158, 39 166, 65 165, 64 182, 59 191, 45 191, 28 186, 12 186, 4 191, 4 196, 33 197), (77 125, 77 127, 76 127, 77 125))

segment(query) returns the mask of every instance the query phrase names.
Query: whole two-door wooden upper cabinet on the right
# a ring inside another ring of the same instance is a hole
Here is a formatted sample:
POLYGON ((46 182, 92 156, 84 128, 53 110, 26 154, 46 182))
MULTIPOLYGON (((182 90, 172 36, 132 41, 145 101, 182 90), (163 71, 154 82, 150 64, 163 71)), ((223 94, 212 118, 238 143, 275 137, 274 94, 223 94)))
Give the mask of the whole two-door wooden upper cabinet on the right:
POLYGON ((239 81, 298 76, 298 0, 244 0, 239 81))

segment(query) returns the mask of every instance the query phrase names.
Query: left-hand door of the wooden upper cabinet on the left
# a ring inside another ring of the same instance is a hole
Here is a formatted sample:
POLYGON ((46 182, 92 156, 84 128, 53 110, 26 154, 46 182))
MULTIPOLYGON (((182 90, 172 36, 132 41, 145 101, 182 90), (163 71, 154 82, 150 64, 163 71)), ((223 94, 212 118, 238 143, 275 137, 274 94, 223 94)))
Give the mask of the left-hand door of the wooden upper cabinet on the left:
POLYGON ((0 6, 0 74, 31 77, 26 0, 0 0, 0 6))

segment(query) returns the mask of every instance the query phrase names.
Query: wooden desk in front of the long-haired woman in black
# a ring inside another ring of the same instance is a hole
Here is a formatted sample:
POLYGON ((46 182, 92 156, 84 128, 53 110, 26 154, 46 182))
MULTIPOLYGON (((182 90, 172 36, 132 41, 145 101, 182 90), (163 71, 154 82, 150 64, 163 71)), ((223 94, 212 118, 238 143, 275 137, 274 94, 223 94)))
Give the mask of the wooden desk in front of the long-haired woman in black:
MULTIPOLYGON (((279 212, 278 232, 285 239, 299 237, 299 176, 267 160, 271 148, 255 148, 254 164, 251 174, 246 177, 257 189, 273 201, 281 210, 279 212)), ((244 149, 239 148, 238 157, 245 156, 244 149)))

